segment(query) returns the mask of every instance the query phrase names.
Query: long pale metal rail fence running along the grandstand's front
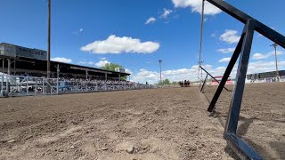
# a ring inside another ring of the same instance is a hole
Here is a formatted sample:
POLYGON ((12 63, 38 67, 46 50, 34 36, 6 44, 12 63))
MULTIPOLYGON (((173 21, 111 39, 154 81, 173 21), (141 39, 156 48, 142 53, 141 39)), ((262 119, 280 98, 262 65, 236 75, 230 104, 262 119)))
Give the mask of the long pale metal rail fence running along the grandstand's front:
POLYGON ((0 75, 0 97, 56 95, 153 88, 150 84, 113 81, 66 80, 35 76, 0 75))

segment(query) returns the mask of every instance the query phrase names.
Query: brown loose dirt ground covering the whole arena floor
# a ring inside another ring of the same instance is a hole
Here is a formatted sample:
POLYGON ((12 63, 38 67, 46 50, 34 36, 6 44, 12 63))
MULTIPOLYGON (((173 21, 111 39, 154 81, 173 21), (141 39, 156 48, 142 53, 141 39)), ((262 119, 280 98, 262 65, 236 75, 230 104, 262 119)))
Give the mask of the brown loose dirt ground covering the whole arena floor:
MULTIPOLYGON (((231 88, 231 87, 230 87, 231 88)), ((215 87, 0 99, 0 159, 237 159, 223 139, 232 92, 215 87)), ((285 84, 248 84, 239 135, 285 159, 285 84)))

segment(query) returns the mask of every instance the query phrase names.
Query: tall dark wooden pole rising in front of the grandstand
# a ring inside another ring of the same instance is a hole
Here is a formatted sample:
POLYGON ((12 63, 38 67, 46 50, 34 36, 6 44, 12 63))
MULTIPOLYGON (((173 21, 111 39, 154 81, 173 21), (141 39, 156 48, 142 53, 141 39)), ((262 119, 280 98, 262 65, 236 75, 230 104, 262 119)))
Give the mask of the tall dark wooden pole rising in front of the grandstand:
POLYGON ((51 0, 48 0, 48 25, 47 25, 47 61, 46 61, 46 76, 51 76, 51 0))

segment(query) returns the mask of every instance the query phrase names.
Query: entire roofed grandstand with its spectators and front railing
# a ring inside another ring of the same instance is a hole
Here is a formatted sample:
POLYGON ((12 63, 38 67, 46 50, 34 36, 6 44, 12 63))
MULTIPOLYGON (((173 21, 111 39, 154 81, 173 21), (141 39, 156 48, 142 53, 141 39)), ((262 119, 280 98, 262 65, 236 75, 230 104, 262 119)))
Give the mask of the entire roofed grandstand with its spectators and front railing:
POLYGON ((88 92, 148 88, 126 81, 124 69, 117 71, 51 61, 51 78, 46 78, 43 50, 15 44, 0 44, 0 95, 34 95, 59 92, 88 92), (125 77, 125 78, 122 78, 125 77), (52 87, 52 91, 48 91, 52 87))

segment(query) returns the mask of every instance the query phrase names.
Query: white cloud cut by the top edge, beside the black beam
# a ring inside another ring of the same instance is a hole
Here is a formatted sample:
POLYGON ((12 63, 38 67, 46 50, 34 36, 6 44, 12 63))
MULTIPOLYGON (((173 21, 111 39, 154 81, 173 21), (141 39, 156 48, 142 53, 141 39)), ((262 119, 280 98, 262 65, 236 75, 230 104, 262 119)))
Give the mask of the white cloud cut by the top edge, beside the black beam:
MULTIPOLYGON (((175 7, 190 7, 191 12, 199 12, 202 11, 202 0, 172 0, 172 3, 175 4, 175 7)), ((208 3, 205 1, 204 14, 215 15, 217 13, 222 12, 215 5, 208 3)))

